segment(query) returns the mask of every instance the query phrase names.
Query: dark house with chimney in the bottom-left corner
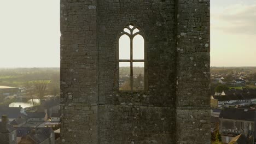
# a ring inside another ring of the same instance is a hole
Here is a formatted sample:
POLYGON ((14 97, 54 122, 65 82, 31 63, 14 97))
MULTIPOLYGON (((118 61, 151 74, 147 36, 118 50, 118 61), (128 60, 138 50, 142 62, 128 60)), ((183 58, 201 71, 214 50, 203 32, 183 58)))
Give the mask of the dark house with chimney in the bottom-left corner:
POLYGON ((16 144, 16 129, 8 124, 7 115, 2 115, 0 122, 0 143, 1 144, 16 144))

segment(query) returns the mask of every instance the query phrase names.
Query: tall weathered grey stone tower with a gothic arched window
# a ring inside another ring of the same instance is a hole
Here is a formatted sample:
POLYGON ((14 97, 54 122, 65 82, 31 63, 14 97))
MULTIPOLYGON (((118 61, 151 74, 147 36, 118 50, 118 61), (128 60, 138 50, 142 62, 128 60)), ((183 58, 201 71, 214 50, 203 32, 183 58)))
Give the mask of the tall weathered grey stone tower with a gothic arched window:
POLYGON ((60 6, 62 143, 210 143, 210 0, 60 6), (119 56, 120 36, 135 28, 144 38, 140 91, 131 88, 133 48, 131 59, 119 56), (120 62, 131 68, 130 91, 120 90, 120 62))

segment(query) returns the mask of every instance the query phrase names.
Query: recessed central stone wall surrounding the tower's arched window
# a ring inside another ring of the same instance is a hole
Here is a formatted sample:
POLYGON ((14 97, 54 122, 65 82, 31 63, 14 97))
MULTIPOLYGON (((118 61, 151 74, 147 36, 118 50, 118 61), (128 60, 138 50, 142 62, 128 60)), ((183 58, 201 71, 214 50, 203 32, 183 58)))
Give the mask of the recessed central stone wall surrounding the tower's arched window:
POLYGON ((100 143, 174 143, 174 1, 98 1, 100 143), (146 38, 148 90, 119 91, 118 34, 130 22, 146 38))

